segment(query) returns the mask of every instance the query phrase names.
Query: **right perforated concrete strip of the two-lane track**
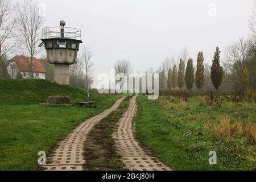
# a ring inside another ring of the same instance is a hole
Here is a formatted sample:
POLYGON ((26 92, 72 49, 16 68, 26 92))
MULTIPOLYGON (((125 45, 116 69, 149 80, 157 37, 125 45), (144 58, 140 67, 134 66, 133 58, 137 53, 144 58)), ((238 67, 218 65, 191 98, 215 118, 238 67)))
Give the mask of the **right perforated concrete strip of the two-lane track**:
POLYGON ((137 102, 136 97, 133 97, 129 108, 118 122, 118 129, 113 134, 117 153, 122 156, 125 168, 131 171, 170 171, 169 167, 154 158, 150 151, 134 138, 135 124, 132 121, 136 113, 137 102))

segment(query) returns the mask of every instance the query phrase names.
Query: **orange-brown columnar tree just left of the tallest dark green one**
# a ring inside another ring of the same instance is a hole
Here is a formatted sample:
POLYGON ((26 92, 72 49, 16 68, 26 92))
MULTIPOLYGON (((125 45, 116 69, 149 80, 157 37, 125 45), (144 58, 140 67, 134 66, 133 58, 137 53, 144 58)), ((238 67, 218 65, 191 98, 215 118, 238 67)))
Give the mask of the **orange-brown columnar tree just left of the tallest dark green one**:
POLYGON ((204 55, 203 52, 199 52, 197 55, 196 65, 196 88, 202 89, 204 86, 204 55))

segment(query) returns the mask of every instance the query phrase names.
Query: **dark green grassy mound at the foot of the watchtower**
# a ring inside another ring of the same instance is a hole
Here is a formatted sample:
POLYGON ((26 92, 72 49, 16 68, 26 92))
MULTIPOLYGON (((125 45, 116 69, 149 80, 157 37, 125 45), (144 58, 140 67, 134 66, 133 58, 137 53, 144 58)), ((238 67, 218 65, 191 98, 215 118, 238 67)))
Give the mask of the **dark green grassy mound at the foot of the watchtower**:
POLYGON ((49 96, 68 96, 73 101, 86 100, 86 91, 57 85, 46 80, 0 80, 0 104, 36 104, 49 96))

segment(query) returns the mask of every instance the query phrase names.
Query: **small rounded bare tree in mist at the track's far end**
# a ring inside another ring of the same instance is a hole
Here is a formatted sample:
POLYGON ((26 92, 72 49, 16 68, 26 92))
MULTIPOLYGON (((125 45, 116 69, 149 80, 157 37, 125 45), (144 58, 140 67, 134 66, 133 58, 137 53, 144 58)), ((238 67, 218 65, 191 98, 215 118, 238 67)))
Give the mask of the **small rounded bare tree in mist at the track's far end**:
POLYGON ((119 80, 117 81, 120 84, 120 89, 123 90, 123 85, 125 84, 125 80, 129 76, 129 73, 133 71, 131 67, 131 63, 128 60, 118 60, 114 65, 115 75, 119 75, 119 80))

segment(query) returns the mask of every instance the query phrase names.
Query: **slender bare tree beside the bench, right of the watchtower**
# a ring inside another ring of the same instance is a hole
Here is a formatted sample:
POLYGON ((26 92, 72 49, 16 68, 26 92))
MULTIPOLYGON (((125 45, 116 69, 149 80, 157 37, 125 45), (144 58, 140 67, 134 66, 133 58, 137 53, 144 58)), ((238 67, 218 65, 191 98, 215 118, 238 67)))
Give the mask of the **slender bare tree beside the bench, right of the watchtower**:
POLYGON ((89 101, 89 88, 90 88, 90 84, 92 79, 92 67, 93 67, 93 63, 92 63, 92 56, 93 53, 90 50, 90 48, 84 46, 82 48, 82 60, 84 61, 84 68, 85 68, 85 80, 86 80, 86 89, 87 89, 87 98, 89 101))

